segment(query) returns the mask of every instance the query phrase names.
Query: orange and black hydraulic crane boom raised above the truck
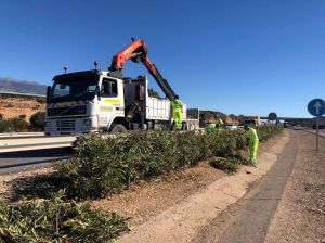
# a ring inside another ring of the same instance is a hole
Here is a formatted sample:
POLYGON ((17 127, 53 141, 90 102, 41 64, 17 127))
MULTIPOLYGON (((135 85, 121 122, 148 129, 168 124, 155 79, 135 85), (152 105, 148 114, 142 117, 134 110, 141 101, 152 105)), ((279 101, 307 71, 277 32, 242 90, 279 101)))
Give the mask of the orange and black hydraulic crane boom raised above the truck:
POLYGON ((155 64, 147 57, 147 46, 141 39, 132 39, 132 43, 118 52, 112 59, 112 65, 108 68, 110 72, 120 72, 123 68, 123 63, 132 60, 135 63, 142 62, 150 74, 155 78, 160 89, 169 100, 176 98, 174 91, 169 86, 168 81, 161 76, 155 64))

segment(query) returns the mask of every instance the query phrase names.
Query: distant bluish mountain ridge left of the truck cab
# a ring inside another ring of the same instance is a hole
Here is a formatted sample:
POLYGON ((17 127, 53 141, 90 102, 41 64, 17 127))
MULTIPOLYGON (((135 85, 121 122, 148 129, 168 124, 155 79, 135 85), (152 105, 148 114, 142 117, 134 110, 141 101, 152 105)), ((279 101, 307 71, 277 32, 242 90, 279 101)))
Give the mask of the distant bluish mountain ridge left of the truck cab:
POLYGON ((46 94, 47 86, 36 81, 16 80, 13 78, 0 78, 0 91, 46 94))

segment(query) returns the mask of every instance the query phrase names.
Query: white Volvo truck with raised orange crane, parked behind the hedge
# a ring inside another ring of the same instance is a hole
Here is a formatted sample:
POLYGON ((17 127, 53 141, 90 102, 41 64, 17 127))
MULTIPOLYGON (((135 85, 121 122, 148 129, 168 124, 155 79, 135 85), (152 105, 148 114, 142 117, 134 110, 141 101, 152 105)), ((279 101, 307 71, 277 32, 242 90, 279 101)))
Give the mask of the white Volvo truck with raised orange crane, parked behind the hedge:
MULTIPOLYGON (((98 131, 173 129, 170 101, 150 97, 146 76, 133 79, 122 77, 122 63, 134 56, 144 63, 167 98, 172 100, 176 94, 148 61, 145 43, 140 39, 133 40, 113 57, 109 72, 93 69, 53 78, 53 86, 48 87, 47 93, 46 135, 80 136, 98 131), (117 60, 122 61, 118 63, 117 60)), ((198 122, 187 120, 186 113, 184 104, 182 129, 197 128, 198 122)))

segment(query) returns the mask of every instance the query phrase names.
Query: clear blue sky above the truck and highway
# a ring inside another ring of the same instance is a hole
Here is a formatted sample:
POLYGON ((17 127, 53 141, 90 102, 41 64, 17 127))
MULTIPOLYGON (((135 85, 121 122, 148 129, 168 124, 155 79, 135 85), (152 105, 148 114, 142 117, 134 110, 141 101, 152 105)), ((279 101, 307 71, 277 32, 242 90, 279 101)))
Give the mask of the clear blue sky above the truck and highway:
POLYGON ((323 0, 2 0, 0 77, 50 85, 63 64, 106 69, 140 37, 190 107, 309 117, 325 99, 324 12, 323 0))

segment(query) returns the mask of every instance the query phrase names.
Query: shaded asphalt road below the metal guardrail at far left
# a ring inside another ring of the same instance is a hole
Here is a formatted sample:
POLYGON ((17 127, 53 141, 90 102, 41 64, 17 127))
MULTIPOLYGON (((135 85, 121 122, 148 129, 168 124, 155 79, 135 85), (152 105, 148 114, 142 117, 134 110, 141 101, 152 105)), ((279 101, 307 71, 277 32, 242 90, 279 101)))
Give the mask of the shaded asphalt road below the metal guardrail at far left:
MULTIPOLYGON (((60 148, 0 153, 0 174, 25 170, 27 167, 23 166, 24 164, 34 163, 32 168, 49 165, 56 158, 62 159, 70 155, 72 153, 60 148), (21 166, 17 168, 3 168, 16 165, 21 166)), ((30 168, 30 166, 28 166, 28 168, 30 168)))

